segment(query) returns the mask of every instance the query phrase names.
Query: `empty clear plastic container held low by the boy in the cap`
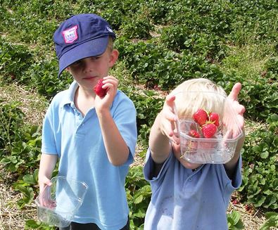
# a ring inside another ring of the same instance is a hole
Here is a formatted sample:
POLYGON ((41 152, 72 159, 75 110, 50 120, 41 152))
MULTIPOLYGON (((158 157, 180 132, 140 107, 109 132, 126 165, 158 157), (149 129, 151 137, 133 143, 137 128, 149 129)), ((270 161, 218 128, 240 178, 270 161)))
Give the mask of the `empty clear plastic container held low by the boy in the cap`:
POLYGON ((53 177, 51 183, 35 200, 38 219, 50 226, 69 226, 82 205, 88 186, 63 176, 53 177))

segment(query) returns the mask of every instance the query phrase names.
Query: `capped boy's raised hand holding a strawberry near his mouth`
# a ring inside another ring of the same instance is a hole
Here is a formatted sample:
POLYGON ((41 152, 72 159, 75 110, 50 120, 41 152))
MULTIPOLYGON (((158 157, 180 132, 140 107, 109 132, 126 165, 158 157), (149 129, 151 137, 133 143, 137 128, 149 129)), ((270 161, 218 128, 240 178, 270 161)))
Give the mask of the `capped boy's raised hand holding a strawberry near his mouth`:
POLYGON ((113 103, 115 94, 118 89, 118 79, 113 76, 103 77, 103 89, 106 89, 106 95, 99 97, 96 95, 95 106, 96 110, 101 112, 102 110, 109 110, 113 103))

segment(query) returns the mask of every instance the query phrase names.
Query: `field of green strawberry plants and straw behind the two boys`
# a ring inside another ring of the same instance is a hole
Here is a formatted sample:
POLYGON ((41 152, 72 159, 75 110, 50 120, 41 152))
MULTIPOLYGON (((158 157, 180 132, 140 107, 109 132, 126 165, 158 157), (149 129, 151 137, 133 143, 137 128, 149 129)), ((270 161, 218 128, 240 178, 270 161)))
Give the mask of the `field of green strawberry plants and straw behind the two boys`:
POLYGON ((251 217, 263 213, 264 222, 256 229, 276 229, 278 3, 274 0, 0 0, 0 183, 17 195, 13 203, 4 202, 1 195, 0 229, 54 229, 35 216, 42 117, 51 98, 72 81, 66 73, 57 78, 52 36, 59 23, 77 13, 99 14, 115 30, 120 59, 111 74, 120 79, 120 89, 137 108, 137 163, 125 184, 131 229, 143 229, 151 197, 142 165, 153 120, 168 91, 197 77, 213 80, 227 93, 235 82, 242 84, 243 183, 227 212, 229 229, 255 229, 233 209, 236 205, 251 217), (20 219, 11 222, 5 211, 14 203, 20 213, 34 214, 20 215, 22 225, 20 219))

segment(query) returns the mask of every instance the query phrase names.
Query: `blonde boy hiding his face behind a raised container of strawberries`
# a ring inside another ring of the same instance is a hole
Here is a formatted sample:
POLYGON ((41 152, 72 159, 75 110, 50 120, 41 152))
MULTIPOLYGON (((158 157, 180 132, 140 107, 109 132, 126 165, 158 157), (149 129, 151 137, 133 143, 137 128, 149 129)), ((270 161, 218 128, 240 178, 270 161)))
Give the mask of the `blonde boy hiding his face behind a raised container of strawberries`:
MULTIPOLYGON (((245 109, 236 101, 240 89, 241 84, 235 84, 229 99, 242 128, 245 109)), ((227 229, 229 198, 241 184, 240 149, 244 137, 239 139, 234 157, 225 165, 201 165, 181 158, 174 106, 178 117, 191 118, 196 111, 192 108, 201 108, 199 106, 205 98, 190 100, 184 94, 177 94, 180 91, 210 91, 225 95, 222 88, 208 79, 191 79, 166 97, 163 109, 151 128, 146 154, 144 176, 151 183, 152 197, 144 229, 224 230, 227 229)), ((217 100, 210 105, 219 110, 224 106, 217 100)))

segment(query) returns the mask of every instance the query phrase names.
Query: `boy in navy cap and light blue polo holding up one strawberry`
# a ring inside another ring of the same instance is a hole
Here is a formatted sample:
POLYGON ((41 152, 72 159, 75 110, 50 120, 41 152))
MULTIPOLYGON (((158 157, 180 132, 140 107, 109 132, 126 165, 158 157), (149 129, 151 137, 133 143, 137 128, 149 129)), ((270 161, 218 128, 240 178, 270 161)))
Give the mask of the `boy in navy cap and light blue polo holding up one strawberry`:
POLYGON ((103 18, 74 15, 53 39, 59 72, 75 79, 49 106, 42 131, 39 190, 58 175, 84 181, 88 191, 72 223, 65 229, 129 229, 125 177, 137 142, 136 110, 118 90, 108 71, 118 59, 115 34, 103 18), (104 96, 94 87, 103 79, 104 96))

